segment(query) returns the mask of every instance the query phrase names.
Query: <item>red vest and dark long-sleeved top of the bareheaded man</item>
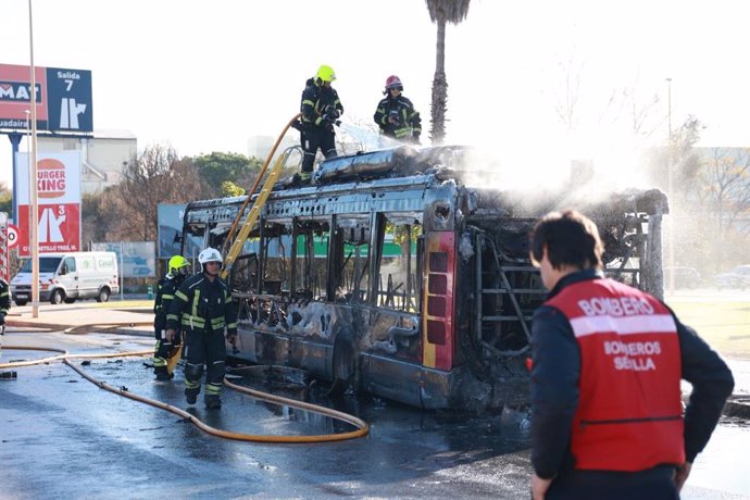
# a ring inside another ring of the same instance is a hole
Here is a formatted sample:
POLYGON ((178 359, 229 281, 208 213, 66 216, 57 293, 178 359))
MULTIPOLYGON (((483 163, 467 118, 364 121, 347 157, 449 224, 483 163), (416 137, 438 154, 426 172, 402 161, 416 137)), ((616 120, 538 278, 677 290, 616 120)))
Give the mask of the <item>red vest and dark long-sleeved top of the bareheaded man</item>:
POLYGON ((721 358, 653 297, 570 274, 534 314, 532 463, 539 477, 692 461, 732 393, 721 358), (682 415, 680 377, 693 392, 682 415))

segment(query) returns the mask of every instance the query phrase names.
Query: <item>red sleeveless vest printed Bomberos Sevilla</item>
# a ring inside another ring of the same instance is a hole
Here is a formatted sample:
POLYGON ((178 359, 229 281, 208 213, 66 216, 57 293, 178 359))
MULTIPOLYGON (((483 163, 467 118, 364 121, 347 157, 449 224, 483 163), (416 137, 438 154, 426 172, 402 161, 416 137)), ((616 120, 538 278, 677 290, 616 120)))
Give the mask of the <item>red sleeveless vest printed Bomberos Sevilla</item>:
POLYGON ((684 463, 679 339, 664 304, 612 279, 572 284, 546 304, 567 317, 580 348, 575 468, 684 463))

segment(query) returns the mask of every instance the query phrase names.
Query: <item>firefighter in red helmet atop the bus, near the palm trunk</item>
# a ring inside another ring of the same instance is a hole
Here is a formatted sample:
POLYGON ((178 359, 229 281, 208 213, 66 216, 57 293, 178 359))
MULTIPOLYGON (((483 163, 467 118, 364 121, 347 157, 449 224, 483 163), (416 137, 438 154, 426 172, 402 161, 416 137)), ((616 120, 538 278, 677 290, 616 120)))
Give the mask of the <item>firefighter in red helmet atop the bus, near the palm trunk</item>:
POLYGON ((403 84, 398 76, 390 75, 386 78, 386 89, 383 93, 387 97, 378 102, 373 120, 380 127, 383 135, 418 145, 422 118, 412 101, 407 99, 402 91, 403 84))

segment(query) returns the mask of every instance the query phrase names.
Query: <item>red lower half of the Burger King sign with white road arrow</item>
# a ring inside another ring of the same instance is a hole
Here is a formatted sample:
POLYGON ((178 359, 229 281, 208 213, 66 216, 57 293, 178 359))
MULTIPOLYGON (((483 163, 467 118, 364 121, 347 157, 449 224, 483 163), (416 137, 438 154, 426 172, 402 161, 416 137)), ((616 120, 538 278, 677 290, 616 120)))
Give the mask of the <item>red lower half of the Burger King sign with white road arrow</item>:
MULTIPOLYGON (((40 195, 41 196, 41 195, 40 195)), ((80 250, 80 205, 59 203, 39 205, 39 252, 77 252, 80 250)), ((18 257, 29 257, 29 205, 18 205, 18 257)))

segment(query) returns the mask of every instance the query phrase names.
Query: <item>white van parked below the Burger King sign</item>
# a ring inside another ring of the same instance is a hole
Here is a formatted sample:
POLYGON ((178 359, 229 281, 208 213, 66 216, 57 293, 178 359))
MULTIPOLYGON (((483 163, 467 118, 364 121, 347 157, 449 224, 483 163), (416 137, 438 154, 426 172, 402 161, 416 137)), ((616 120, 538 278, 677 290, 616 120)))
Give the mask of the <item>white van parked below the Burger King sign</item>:
MULTIPOLYGON (((39 300, 53 304, 76 299, 107 302, 120 292, 117 255, 114 252, 42 253, 39 255, 39 300)), ((32 300, 32 260, 11 280, 17 305, 32 300)))

